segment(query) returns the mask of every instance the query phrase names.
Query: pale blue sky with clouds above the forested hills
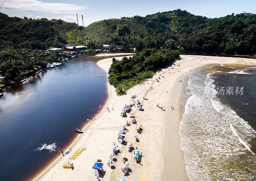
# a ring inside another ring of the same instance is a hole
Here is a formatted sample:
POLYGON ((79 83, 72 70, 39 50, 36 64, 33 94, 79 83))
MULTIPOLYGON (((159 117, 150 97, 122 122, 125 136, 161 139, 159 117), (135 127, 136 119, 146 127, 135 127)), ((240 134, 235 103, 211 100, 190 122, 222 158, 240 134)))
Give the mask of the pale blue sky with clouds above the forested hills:
POLYGON ((215 18, 231 13, 256 13, 255 7, 256 0, 0 0, 0 12, 11 17, 26 16, 33 19, 47 18, 77 22, 76 13, 78 13, 79 25, 82 25, 81 15, 84 16, 84 26, 104 19, 145 16, 175 9, 215 18))

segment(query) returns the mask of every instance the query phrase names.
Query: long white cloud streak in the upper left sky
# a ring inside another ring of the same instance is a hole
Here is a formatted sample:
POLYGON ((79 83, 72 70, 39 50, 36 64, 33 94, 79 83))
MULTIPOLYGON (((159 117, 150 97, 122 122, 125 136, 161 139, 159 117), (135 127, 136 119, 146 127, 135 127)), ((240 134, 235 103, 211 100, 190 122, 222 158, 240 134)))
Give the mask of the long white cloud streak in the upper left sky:
POLYGON ((51 13, 76 13, 88 6, 64 3, 44 3, 38 0, 0 0, 0 10, 34 10, 51 13))

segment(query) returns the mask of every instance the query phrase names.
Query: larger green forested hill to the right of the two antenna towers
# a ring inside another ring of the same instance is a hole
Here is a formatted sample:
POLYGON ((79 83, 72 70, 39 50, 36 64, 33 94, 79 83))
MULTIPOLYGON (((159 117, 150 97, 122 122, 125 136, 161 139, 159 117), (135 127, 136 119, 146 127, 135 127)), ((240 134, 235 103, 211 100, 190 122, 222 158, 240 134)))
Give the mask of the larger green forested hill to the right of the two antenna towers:
POLYGON ((138 51, 179 45, 186 52, 255 54, 256 14, 243 12, 211 19, 177 9, 98 21, 84 28, 77 40, 92 46, 133 45, 138 51))

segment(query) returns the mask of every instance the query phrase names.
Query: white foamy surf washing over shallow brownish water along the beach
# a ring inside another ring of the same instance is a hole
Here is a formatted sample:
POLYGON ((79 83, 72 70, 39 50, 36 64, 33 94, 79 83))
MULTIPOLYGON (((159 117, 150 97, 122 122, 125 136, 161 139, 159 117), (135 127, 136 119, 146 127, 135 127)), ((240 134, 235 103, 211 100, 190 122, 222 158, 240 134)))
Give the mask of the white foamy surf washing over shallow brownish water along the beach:
POLYGON ((185 151, 188 177, 191 181, 253 180, 255 175, 248 175, 243 167, 256 162, 248 143, 256 131, 220 102, 211 75, 205 78, 202 73, 194 73, 188 81, 195 91, 187 100, 180 122, 180 145, 185 151), (203 169, 197 167, 198 161, 203 169))

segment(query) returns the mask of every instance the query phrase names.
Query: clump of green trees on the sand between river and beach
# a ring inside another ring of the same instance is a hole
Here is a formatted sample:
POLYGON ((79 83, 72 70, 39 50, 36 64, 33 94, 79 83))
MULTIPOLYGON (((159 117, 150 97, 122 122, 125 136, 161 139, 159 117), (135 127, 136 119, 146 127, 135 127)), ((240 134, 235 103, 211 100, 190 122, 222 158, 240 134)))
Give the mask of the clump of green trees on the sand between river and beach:
POLYGON ((173 50, 144 49, 129 59, 113 58, 109 68, 109 83, 114 85, 118 94, 130 89, 136 84, 152 78, 156 71, 179 59, 179 52, 173 50))

